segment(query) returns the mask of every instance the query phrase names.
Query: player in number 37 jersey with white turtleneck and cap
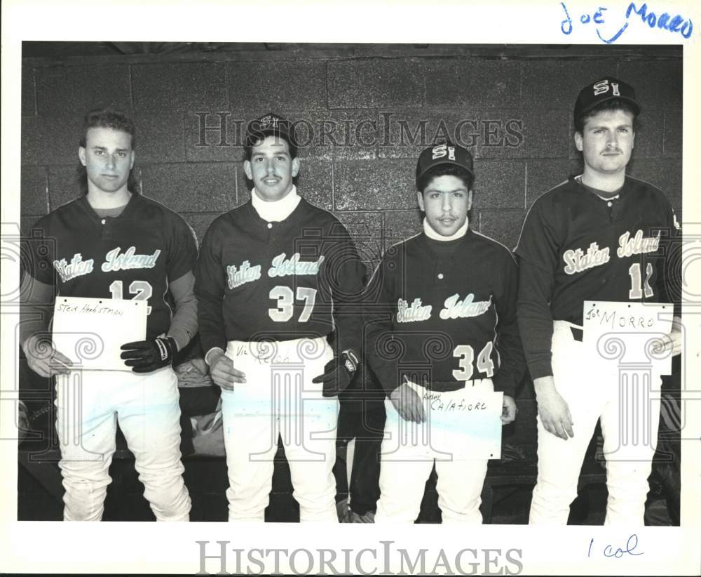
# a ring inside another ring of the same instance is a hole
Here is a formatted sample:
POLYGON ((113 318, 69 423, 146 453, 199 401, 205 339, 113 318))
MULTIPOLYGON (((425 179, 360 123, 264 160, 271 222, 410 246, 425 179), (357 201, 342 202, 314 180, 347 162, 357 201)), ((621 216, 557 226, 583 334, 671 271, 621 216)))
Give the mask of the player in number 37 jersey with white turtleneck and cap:
POLYGON ((229 520, 264 520, 282 437, 300 521, 338 522, 335 395, 358 366, 365 267, 339 220, 297 194, 289 121, 252 121, 245 148, 251 199, 212 223, 196 269, 205 360, 222 387, 229 520))

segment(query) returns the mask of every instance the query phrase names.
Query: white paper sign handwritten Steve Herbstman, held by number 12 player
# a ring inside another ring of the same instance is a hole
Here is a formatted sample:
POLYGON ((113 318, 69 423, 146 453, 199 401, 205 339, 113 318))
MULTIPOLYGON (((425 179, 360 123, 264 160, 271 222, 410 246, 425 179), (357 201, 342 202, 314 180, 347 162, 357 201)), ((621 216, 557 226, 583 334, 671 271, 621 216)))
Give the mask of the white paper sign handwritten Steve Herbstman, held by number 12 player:
POLYGON ((56 299, 53 342, 74 365, 90 371, 130 371, 119 358, 124 343, 146 338, 147 302, 119 298, 56 299))

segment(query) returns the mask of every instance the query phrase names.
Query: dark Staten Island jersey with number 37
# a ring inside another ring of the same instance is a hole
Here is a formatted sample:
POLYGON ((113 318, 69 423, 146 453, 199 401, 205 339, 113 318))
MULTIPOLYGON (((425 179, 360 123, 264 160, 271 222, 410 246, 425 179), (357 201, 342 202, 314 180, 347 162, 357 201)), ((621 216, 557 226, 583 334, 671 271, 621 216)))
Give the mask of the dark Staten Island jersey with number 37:
POLYGON ((364 275, 331 213, 300 199, 285 220, 268 223, 248 201, 219 216, 203 240, 195 274, 203 349, 338 329, 343 349, 358 350, 364 275))

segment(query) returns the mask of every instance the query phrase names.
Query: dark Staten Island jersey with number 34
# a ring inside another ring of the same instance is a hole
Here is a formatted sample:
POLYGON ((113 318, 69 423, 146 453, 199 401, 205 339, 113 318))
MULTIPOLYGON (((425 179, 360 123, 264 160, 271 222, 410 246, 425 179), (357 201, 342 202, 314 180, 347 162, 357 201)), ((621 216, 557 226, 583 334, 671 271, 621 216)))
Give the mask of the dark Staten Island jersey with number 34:
POLYGON ((513 396, 525 371, 516 320, 518 270, 477 232, 421 233, 383 255, 368 284, 365 355, 389 394, 404 379, 437 391, 492 378, 513 396))

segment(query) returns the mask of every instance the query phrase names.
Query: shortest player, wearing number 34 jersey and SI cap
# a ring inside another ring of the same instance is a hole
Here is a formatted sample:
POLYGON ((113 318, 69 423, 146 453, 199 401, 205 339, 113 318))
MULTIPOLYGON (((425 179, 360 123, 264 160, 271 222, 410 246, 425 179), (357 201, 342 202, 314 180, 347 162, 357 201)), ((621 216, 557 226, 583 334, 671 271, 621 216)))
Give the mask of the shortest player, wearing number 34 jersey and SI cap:
POLYGON ((502 423, 516 416, 525 371, 517 265, 508 248, 469 226, 474 178, 463 147, 421 152, 423 232, 388 249, 368 285, 365 355, 387 394, 376 523, 414 522, 434 460, 443 522, 482 523, 487 460, 465 459, 470 447, 447 440, 446 414, 464 410, 466 390, 496 390, 504 392, 502 423), (401 420, 416 423, 413 442, 397 444, 401 420))

